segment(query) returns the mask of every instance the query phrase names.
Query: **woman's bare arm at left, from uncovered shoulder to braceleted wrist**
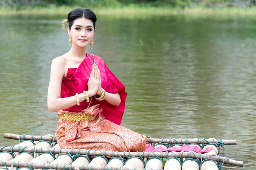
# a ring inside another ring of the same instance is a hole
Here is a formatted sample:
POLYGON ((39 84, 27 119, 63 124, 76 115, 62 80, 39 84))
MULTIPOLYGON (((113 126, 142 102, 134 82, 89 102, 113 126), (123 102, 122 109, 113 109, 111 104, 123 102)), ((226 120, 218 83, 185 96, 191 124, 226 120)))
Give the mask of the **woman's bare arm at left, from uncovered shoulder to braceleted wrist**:
MULTIPOLYGON (((51 112, 59 111, 76 105, 76 96, 61 98, 61 82, 65 74, 64 71, 65 60, 57 57, 52 60, 50 81, 48 87, 47 105, 51 112)), ((89 97, 93 96, 93 92, 88 90, 89 97)), ((79 101, 84 101, 85 96, 83 93, 79 94, 79 101)))

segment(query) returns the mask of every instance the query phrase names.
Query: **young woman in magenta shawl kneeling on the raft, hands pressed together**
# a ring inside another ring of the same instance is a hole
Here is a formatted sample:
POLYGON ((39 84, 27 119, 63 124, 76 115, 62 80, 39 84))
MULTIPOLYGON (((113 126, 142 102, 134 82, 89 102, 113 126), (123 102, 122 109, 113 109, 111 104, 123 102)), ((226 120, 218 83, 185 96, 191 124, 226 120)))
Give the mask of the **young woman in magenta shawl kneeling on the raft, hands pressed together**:
POLYGON ((49 111, 59 111, 57 141, 62 148, 144 151, 146 136, 120 126, 127 93, 93 46, 96 15, 76 8, 63 20, 69 24, 72 47, 52 60, 48 88, 49 111))

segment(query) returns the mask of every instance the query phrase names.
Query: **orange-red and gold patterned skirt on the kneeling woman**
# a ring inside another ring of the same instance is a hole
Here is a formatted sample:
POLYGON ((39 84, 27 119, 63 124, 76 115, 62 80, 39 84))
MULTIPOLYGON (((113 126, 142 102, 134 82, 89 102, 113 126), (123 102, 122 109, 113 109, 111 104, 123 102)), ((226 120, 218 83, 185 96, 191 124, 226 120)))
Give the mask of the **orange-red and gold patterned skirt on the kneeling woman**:
MULTIPOLYGON (((143 152, 145 150, 146 136, 104 119, 104 117, 100 116, 101 111, 100 105, 93 105, 88 109, 88 113, 94 117, 92 121, 75 122, 60 119, 56 131, 59 146, 67 149, 80 148, 119 152, 143 152)), ((84 117, 85 113, 84 111, 61 111, 58 115, 64 114, 71 114, 73 117, 84 117)))

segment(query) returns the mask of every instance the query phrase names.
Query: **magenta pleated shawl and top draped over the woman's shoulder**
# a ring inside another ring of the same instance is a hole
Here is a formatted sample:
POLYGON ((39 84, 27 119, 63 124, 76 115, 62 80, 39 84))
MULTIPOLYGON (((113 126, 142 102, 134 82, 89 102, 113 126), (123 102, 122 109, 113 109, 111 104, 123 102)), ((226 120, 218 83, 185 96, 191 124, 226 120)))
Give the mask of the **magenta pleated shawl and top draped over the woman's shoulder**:
MULTIPOLYGON (((105 119, 120 125, 122 121, 122 115, 125 111, 125 99, 127 93, 125 92, 125 86, 122 82, 116 78, 116 76, 108 69, 103 59, 94 55, 95 62, 100 70, 100 76, 102 81, 102 88, 108 93, 119 93, 121 103, 119 106, 114 106, 108 102, 94 99, 91 105, 100 104, 103 108, 101 115, 105 119)), ((90 77, 91 68, 93 65, 93 56, 87 53, 85 59, 81 62, 78 68, 68 68, 67 78, 61 83, 61 98, 74 96, 76 93, 82 93, 84 90, 88 90, 87 82, 90 77)), ((74 105, 70 108, 64 109, 64 111, 80 112, 88 107, 88 102, 82 101, 80 105, 74 105)))

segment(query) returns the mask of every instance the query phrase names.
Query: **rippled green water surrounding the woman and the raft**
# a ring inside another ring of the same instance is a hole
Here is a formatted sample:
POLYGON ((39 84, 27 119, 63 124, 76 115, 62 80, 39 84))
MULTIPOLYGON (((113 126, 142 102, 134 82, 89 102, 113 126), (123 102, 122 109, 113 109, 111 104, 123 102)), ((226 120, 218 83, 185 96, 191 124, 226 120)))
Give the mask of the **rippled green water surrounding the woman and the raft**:
MULTIPOLYGON (((47 88, 52 59, 70 49, 64 18, 0 16, 2 146, 18 143, 3 133, 55 134, 47 88)), ((255 17, 98 16, 88 52, 126 86, 122 126, 154 138, 237 139, 224 156, 253 170, 255 45, 255 17)))

